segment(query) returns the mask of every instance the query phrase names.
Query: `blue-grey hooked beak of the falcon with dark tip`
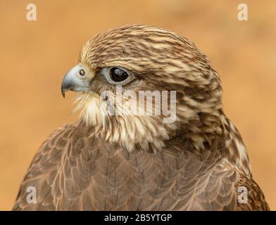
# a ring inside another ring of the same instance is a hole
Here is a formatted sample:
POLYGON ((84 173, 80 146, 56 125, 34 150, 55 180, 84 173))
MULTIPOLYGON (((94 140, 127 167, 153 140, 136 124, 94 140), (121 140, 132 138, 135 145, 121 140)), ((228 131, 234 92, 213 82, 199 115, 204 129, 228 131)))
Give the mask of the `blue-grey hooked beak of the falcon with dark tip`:
POLYGON ((61 94, 65 98, 65 91, 89 91, 89 79, 87 79, 88 72, 81 64, 76 65, 69 70, 61 84, 61 94))

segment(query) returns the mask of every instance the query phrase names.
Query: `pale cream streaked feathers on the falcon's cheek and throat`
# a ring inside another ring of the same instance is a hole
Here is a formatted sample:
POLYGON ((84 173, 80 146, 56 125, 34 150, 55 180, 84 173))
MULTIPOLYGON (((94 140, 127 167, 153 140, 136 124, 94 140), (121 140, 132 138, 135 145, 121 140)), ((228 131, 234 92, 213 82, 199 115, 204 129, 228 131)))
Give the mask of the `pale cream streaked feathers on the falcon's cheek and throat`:
MULTIPOLYGON (((168 127, 162 122, 158 116, 140 116, 140 115, 117 115, 118 108, 127 111, 123 99, 121 104, 115 105, 115 96, 108 93, 99 96, 94 93, 79 94, 75 99, 75 110, 80 111, 80 116, 86 124, 95 127, 96 133, 110 143, 119 143, 125 146, 127 150, 132 151, 139 144, 141 149, 148 149, 149 143, 155 149, 161 149, 165 145, 164 141, 169 139, 168 127), (108 96, 108 99, 106 99, 108 96), (113 108, 113 115, 110 114, 110 107, 113 108)), ((133 104, 130 101, 130 104, 133 104)), ((173 124, 167 124, 170 129, 176 129, 173 124)))

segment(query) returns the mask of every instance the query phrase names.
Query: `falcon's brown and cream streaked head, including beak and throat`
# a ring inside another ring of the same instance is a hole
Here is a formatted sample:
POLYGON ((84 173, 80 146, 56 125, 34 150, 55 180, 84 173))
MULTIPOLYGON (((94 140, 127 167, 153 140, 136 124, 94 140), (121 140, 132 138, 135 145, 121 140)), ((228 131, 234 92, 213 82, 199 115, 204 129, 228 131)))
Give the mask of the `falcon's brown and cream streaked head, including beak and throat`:
POLYGON ((221 132, 217 72, 191 41, 158 27, 127 25, 96 35, 61 90, 79 92, 81 120, 128 150, 161 149, 181 132, 201 148, 204 136, 221 132))

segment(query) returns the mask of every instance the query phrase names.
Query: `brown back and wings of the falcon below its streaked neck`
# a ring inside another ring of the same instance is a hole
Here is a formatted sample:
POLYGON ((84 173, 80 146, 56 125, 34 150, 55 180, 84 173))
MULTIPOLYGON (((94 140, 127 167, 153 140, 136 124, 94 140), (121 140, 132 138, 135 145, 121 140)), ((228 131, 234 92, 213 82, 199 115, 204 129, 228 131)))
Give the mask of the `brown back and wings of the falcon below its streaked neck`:
POLYGON ((13 210, 269 210, 256 182, 218 151, 130 153, 86 129, 66 125, 42 144, 13 210), (28 186, 36 204, 26 201, 28 186))

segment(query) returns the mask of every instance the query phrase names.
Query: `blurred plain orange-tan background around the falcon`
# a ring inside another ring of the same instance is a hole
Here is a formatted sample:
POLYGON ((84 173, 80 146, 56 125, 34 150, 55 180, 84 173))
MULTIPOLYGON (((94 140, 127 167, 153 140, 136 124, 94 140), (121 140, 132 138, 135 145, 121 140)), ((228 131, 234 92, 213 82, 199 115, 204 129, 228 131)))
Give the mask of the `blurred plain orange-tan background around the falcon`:
POLYGON ((136 23, 192 39, 219 72, 225 113, 242 133, 253 177, 276 210, 276 1, 0 1, 0 210, 11 210, 42 141, 75 122, 61 79, 101 30, 136 23), (212 3, 211 3, 212 2, 212 3), (216 2, 216 3, 215 3, 216 2), (26 20, 36 4, 37 21, 26 20))

